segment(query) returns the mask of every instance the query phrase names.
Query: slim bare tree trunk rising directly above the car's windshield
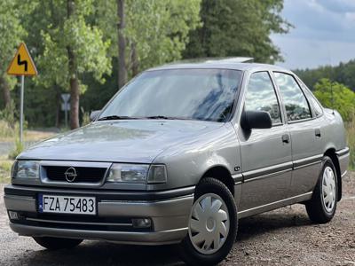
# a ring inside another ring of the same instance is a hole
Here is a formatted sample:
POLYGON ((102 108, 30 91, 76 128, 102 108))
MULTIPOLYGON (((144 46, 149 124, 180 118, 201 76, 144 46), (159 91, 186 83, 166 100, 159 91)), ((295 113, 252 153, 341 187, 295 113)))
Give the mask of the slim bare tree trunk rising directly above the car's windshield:
POLYGON ((122 86, 127 82, 127 69, 125 62, 126 54, 126 39, 123 35, 123 30, 125 25, 124 17, 124 0, 117 0, 117 32, 118 32, 118 89, 121 89, 122 86))

